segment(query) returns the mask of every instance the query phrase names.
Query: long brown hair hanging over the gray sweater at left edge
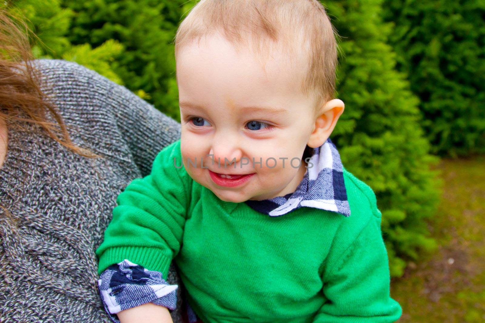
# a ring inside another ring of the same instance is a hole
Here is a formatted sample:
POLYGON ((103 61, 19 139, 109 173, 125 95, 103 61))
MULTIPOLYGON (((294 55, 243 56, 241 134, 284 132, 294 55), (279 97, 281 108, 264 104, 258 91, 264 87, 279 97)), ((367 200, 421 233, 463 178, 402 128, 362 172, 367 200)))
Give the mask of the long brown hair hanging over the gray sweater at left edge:
POLYGON ((7 127, 19 122, 34 123, 73 152, 97 156, 71 141, 62 116, 41 90, 40 73, 32 64, 29 36, 36 37, 21 17, 0 10, 0 120, 7 127), (55 123, 48 121, 49 115, 55 123))

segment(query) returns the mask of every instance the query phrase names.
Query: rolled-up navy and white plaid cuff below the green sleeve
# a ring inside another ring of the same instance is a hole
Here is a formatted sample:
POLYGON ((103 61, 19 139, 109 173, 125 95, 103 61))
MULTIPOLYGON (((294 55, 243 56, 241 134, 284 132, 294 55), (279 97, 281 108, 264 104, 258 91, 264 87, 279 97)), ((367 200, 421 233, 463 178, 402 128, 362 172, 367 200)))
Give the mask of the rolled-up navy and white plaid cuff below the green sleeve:
POLYGON ((124 260, 109 266, 99 277, 99 294, 111 320, 119 323, 116 313, 146 303, 174 310, 178 285, 169 285, 162 273, 150 271, 124 260))

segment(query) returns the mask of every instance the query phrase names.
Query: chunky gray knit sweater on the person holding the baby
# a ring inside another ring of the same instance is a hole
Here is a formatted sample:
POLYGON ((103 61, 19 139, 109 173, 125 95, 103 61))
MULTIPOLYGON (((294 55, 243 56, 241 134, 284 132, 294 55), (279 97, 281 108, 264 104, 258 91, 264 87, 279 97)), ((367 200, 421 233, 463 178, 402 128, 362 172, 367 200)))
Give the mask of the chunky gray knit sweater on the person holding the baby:
MULTIPOLYGON (((72 153, 29 124, 9 129, 0 168, 0 322, 110 322, 95 250, 116 196, 148 174, 180 125, 78 64, 36 63, 74 143, 102 157, 72 153)), ((167 280, 178 283, 173 268, 167 280)))

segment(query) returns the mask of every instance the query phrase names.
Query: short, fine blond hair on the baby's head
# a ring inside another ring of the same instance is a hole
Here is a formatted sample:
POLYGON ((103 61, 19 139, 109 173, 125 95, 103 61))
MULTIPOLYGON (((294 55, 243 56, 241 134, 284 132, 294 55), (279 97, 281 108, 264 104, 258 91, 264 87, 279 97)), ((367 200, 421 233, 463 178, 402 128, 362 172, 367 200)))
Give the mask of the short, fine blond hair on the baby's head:
POLYGON ((275 43, 283 44, 293 61, 295 50, 302 51, 307 60, 302 92, 315 93, 317 106, 334 97, 338 35, 318 0, 201 0, 178 28, 176 57, 185 44, 217 32, 236 48, 250 45, 243 37, 249 34, 263 55, 275 43))

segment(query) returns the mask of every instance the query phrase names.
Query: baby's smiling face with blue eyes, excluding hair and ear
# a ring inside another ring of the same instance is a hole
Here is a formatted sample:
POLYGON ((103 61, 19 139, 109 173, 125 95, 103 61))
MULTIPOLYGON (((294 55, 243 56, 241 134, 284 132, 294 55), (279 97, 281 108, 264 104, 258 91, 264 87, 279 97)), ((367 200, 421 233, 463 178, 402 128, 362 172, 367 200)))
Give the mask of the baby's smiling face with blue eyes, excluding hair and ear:
POLYGON ((217 35, 184 46, 177 80, 180 147, 189 175, 230 202, 294 192, 315 127, 313 99, 300 90, 304 72, 277 49, 264 68, 250 49, 238 53, 217 35))

